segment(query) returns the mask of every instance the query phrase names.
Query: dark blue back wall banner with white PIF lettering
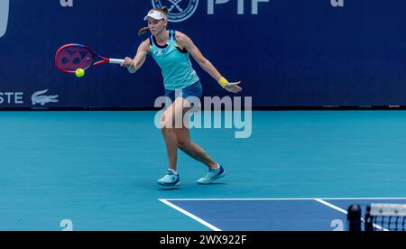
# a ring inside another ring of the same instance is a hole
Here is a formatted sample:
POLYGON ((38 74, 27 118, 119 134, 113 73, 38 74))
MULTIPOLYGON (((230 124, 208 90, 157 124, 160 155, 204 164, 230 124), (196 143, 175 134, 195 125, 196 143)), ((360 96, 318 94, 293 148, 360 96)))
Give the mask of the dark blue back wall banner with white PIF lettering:
MULTIPOLYGON (((0 0, 0 108, 152 107, 164 89, 150 56, 135 74, 76 78, 54 54, 77 42, 133 57, 154 5, 254 106, 406 105, 404 0, 0 0)), ((193 64, 205 96, 230 95, 193 64)))

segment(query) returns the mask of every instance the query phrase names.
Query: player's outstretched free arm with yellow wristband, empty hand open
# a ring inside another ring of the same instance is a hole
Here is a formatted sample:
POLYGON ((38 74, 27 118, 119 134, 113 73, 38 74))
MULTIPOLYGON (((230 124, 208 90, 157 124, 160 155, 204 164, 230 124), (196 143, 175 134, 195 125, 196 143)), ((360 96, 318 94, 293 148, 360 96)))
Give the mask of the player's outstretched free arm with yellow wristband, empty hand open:
POLYGON ((243 88, 238 87, 237 85, 241 83, 238 82, 228 82, 226 78, 224 78, 218 70, 213 66, 213 64, 206 59, 203 54, 198 50, 198 47, 191 41, 191 39, 184 33, 176 32, 176 41, 180 46, 180 49, 186 49, 189 51, 189 54, 193 57, 198 65, 204 69, 208 74, 216 79, 218 84, 220 84, 223 88, 230 92, 240 92, 243 88))

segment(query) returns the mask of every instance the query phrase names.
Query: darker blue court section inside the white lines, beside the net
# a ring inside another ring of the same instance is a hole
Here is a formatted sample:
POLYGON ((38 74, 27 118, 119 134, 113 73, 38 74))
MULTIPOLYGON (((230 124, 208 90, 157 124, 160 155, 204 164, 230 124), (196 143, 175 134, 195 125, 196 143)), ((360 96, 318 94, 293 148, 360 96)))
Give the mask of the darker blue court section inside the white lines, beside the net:
POLYGON ((347 231, 347 208, 352 204, 356 203, 362 207, 370 203, 406 204, 406 198, 160 200, 213 231, 347 231))

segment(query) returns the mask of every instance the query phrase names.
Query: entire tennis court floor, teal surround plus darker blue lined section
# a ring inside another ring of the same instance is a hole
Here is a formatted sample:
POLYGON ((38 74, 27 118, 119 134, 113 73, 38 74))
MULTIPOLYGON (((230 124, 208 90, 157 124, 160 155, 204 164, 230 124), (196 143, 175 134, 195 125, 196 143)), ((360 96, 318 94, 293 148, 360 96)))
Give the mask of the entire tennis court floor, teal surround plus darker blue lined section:
POLYGON ((0 230, 340 230, 350 204, 406 203, 406 112, 254 111, 252 134, 192 129, 226 177, 180 152, 167 169, 154 111, 0 115, 0 230), (65 227, 66 228, 66 227, 65 227))

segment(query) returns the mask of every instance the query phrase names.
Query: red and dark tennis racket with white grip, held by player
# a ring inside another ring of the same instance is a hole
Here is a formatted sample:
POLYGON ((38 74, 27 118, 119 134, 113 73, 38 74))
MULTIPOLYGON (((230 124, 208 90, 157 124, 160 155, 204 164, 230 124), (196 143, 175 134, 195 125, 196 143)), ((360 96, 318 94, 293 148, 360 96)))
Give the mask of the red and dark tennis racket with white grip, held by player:
POLYGON ((89 69, 105 63, 121 64, 125 60, 108 59, 98 55, 88 46, 82 44, 66 44, 60 47, 55 54, 55 66, 64 72, 74 73, 76 69, 89 69))

